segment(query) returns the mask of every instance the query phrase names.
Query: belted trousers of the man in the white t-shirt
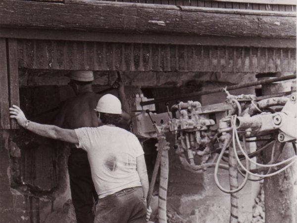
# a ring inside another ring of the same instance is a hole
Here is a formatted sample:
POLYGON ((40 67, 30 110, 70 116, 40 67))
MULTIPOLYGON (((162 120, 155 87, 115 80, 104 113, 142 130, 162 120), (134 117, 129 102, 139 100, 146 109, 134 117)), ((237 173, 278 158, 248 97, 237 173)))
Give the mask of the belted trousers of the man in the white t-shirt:
POLYGON ((94 223, 145 223, 147 204, 142 187, 132 187, 100 198, 94 223))

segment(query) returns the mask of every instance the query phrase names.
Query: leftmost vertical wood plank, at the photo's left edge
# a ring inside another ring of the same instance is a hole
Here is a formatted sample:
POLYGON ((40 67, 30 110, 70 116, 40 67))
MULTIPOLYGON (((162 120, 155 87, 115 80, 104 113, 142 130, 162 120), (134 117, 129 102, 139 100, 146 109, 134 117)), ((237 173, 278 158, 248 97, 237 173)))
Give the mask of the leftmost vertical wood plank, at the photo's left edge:
POLYGON ((9 129, 9 94, 7 79, 6 40, 0 38, 0 129, 9 129))

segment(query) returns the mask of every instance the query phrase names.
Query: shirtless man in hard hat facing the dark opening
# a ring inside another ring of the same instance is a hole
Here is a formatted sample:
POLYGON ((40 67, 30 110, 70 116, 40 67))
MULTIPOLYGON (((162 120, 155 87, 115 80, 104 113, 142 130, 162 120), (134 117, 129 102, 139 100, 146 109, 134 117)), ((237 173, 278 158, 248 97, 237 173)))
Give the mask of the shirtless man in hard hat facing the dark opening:
MULTIPOLYGON (((93 71, 76 70, 70 72, 69 86, 74 90, 75 97, 68 99, 60 108, 54 125, 62 128, 75 129, 80 127, 97 127, 98 118, 94 108, 100 98, 92 88, 94 80, 93 71)), ((129 121, 128 103, 124 92, 124 86, 116 81, 113 84, 118 90, 123 110, 122 125, 129 121)), ((126 124, 128 125, 128 124, 126 124)), ((68 173, 70 181, 71 199, 75 209, 77 223, 93 223, 94 214, 92 212, 94 202, 98 199, 97 192, 92 181, 90 164, 85 150, 77 149, 75 145, 64 145, 70 148, 68 158, 68 173)))

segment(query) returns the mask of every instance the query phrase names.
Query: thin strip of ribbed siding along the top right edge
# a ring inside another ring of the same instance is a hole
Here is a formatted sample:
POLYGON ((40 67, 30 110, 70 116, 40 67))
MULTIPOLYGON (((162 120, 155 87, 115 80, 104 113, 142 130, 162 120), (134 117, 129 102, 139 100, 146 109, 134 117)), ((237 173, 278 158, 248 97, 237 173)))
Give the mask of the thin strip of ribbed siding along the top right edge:
MULTIPOLYGON (((110 0, 114 1, 114 0, 110 0)), ((116 0, 118 2, 137 2, 149 4, 171 4, 171 5, 188 5, 211 8, 237 8, 250 10, 267 10, 267 11, 296 11, 296 5, 284 4, 257 4, 241 2, 219 2, 211 0, 116 0)))

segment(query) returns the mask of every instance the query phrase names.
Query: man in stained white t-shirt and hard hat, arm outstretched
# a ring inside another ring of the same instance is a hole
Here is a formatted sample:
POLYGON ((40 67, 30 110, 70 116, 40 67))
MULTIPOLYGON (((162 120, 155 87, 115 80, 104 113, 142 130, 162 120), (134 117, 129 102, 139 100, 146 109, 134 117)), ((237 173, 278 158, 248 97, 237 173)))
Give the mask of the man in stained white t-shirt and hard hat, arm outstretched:
POLYGON ((99 197, 94 223, 144 223, 151 209, 147 209, 148 174, 142 146, 133 133, 116 127, 122 113, 118 98, 102 96, 95 111, 101 126, 73 130, 31 122, 17 106, 9 109, 10 117, 22 127, 73 143, 88 153, 99 197))

